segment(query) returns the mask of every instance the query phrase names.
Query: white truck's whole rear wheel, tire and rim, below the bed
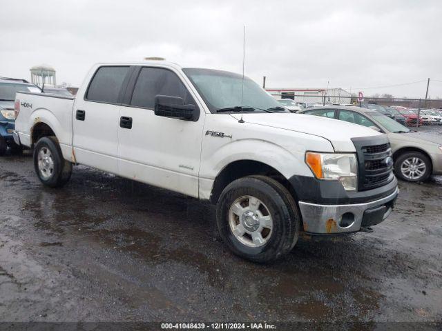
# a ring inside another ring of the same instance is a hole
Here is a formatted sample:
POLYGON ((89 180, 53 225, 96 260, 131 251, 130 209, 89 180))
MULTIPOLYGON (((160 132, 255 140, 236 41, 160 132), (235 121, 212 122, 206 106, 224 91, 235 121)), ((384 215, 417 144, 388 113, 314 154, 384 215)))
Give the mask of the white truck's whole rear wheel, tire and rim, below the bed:
POLYGON ((34 168, 41 183, 50 188, 66 184, 72 173, 72 163, 63 158, 55 137, 43 137, 34 149, 34 168))

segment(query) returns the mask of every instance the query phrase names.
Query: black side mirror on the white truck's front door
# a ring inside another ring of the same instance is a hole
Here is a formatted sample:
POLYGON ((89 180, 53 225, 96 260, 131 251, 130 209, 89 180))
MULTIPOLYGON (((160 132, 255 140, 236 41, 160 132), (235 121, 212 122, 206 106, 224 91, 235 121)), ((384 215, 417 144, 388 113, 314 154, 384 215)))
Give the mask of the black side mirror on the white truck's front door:
POLYGON ((155 115, 157 116, 195 121, 195 110, 195 105, 184 105, 184 100, 180 97, 155 95, 155 115))

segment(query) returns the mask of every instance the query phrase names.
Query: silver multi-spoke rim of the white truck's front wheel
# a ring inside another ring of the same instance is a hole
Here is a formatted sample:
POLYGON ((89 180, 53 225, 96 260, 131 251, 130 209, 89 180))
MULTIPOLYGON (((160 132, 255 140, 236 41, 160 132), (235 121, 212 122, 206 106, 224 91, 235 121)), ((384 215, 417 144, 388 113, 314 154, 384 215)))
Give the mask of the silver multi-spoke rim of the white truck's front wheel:
POLYGON ((269 208, 256 197, 245 195, 229 209, 230 230, 240 243, 252 248, 265 245, 273 231, 269 208))

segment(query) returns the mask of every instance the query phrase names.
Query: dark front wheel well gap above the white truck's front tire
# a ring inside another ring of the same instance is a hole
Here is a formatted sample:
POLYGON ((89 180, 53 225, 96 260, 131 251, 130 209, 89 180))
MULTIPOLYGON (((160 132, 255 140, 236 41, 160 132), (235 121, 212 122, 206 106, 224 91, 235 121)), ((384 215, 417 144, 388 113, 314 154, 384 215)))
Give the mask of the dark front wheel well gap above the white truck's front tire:
POLYGON ((251 176, 252 174, 261 174, 275 179, 289 190, 295 201, 298 201, 293 186, 278 170, 265 163, 252 160, 234 161, 221 170, 213 183, 210 201, 217 203, 222 190, 224 190, 229 183, 241 177, 251 176))

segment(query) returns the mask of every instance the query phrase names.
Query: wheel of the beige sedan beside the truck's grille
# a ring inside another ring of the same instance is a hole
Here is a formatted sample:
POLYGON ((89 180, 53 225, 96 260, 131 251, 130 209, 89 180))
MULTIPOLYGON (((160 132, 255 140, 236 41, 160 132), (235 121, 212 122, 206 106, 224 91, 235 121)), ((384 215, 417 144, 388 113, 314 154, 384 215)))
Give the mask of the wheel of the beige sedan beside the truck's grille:
POLYGON ((432 163, 421 152, 405 152, 394 162, 394 171, 404 181, 425 181, 432 172, 432 163))

